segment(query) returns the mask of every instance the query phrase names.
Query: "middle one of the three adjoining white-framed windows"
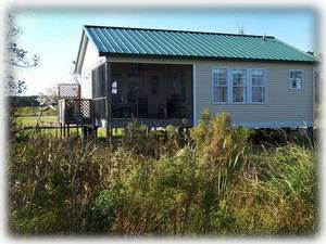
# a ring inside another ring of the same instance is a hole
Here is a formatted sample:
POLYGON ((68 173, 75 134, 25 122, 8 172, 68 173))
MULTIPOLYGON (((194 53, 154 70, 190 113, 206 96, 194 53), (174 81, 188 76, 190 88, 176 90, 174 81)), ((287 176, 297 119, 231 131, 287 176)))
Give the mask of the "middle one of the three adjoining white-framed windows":
POLYGON ((233 69, 233 102, 246 101, 246 69, 233 69))

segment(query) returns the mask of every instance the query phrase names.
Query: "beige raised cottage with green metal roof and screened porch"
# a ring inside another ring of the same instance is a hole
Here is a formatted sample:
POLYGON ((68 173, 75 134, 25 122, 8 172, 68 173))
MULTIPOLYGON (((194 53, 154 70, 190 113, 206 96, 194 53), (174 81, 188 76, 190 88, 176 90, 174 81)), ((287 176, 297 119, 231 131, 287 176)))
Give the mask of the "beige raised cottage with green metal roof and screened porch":
POLYGON ((92 125, 313 127, 314 57, 272 36, 84 26, 75 74, 92 125))

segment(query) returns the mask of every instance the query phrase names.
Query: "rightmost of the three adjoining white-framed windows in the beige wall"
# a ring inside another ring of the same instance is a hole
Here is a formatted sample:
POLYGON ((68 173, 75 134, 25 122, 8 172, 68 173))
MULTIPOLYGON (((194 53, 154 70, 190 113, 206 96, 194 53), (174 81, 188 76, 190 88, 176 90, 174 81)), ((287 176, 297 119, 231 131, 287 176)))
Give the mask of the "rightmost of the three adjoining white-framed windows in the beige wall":
POLYGON ((251 102, 253 103, 265 102, 265 70, 264 69, 251 70, 251 102))

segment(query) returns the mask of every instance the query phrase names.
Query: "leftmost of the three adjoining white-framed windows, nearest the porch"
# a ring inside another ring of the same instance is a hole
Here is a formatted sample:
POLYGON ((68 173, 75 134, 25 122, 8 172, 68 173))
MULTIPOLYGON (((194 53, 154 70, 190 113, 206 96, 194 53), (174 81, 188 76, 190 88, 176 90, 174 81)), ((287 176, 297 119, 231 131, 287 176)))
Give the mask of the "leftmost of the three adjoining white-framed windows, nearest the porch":
POLYGON ((213 103, 227 102, 227 69, 213 69, 213 103))

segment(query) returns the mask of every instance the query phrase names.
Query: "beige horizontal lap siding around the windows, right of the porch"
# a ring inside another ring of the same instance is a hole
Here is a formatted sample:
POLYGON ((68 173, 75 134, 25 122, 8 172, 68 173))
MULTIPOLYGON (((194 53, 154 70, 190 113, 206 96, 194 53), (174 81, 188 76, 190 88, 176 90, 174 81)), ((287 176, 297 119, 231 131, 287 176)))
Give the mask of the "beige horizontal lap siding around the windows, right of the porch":
POLYGON ((197 118, 208 108, 212 114, 229 113, 235 123, 312 121, 312 65, 285 63, 196 63, 197 118), (212 67, 266 69, 265 104, 212 104, 212 67), (303 90, 288 89, 288 70, 303 69, 303 90))

